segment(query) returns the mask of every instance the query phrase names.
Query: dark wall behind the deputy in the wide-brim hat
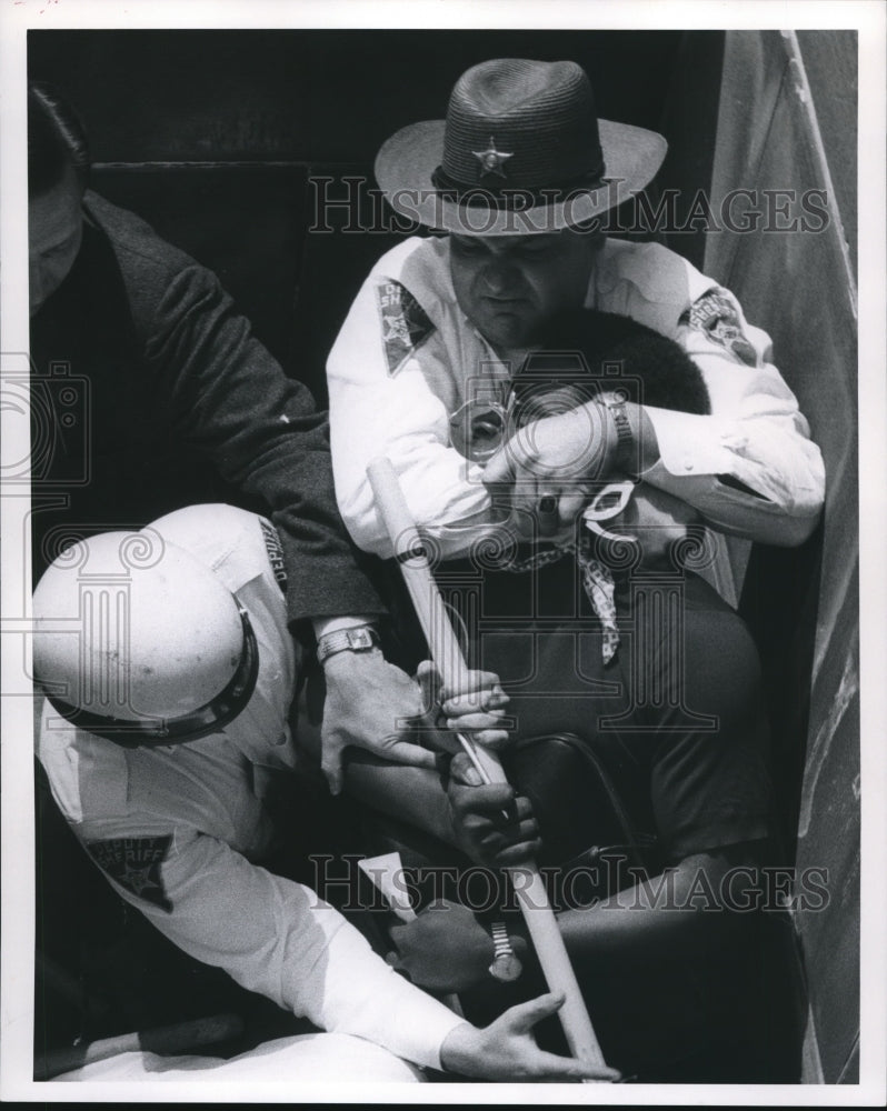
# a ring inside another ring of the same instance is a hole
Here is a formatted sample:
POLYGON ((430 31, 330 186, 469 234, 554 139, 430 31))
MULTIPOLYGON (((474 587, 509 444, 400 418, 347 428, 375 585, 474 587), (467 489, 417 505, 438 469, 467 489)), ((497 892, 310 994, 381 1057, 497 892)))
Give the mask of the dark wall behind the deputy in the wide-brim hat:
MULTIPOLYGON (((311 178, 332 178, 327 196, 346 204, 342 179, 371 181, 381 143, 441 118, 464 70, 526 57, 578 61, 602 117, 667 136, 660 184, 705 186, 722 34, 695 38, 689 78, 677 31, 31 31, 28 50, 30 77, 56 84, 83 118, 97 191, 213 269, 325 403, 326 352, 392 239, 342 231, 345 208, 330 210, 336 231, 310 233, 311 178), (705 87, 688 116, 688 92, 705 87)), ((701 264, 702 232, 681 239, 701 264)))

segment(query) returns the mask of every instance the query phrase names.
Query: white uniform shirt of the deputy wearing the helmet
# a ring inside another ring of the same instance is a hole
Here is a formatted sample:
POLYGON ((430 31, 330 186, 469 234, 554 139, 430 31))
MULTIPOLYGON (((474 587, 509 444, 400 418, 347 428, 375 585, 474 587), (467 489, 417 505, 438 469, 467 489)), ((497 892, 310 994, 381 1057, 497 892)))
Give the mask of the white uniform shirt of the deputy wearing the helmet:
POLYGON ((260 659, 249 705, 200 740, 123 749, 46 703, 38 754, 53 797, 112 887, 180 949, 322 1030, 440 1068, 440 1045, 464 1020, 399 977, 313 891, 250 862, 271 834, 262 782, 296 765, 287 715, 297 660, 270 527, 216 509, 211 536, 189 529, 189 510, 155 528, 249 612, 260 659))

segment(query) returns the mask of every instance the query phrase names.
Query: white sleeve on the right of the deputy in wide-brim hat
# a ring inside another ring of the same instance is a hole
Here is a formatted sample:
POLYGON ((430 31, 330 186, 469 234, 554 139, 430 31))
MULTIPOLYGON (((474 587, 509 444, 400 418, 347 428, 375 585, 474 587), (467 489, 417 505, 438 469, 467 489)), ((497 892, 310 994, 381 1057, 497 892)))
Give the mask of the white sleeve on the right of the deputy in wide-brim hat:
POLYGON ((599 307, 680 343, 711 401, 708 417, 647 407, 659 461, 642 477, 724 532, 799 543, 821 510, 825 468, 797 399, 770 361, 769 336, 748 324, 732 293, 674 252, 655 243, 615 247, 599 307), (727 334, 705 327, 707 304, 710 323, 720 307, 727 334))

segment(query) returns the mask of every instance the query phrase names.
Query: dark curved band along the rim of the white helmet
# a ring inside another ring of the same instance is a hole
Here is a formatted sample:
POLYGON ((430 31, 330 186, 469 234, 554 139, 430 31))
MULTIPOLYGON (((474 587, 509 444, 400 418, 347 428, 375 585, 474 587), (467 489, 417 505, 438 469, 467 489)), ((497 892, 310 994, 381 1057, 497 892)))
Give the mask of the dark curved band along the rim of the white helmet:
POLYGON ((256 680, 259 675, 259 645, 249 615, 242 607, 240 622, 243 629, 243 645, 237 671, 223 691, 190 713, 179 718, 143 718, 129 721, 83 710, 54 694, 48 694, 48 701, 62 718, 78 729, 114 741, 126 749, 134 749, 140 744, 177 744, 199 740, 230 724, 246 708, 256 690, 256 680))

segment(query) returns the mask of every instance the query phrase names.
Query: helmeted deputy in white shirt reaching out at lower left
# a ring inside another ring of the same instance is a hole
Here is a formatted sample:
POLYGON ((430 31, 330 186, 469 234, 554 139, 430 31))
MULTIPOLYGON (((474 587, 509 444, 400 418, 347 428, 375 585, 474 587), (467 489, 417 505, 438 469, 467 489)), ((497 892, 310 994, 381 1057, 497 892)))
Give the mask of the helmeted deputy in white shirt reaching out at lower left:
MULTIPOLYGON (((52 563, 33 599, 38 754, 69 825, 179 948, 320 1030, 388 1050, 388 1079, 412 1078, 398 1058, 487 1079, 591 1075, 532 1040, 554 997, 478 1030, 313 891, 253 863, 271 842, 270 783, 298 762, 281 565, 268 521, 225 506, 93 537, 52 563)), ((318 1043, 331 1075, 337 1053, 360 1068, 348 1045, 318 1043)))

